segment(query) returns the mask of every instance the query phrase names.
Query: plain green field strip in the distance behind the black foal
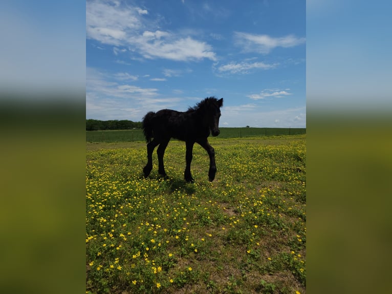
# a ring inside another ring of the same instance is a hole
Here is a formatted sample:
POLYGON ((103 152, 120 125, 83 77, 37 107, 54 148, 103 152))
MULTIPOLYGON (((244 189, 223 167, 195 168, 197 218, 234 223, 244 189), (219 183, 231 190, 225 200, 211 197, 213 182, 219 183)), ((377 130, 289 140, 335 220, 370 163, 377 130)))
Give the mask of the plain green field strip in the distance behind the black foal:
MULTIPOLYGON (((244 138, 254 136, 300 135, 306 134, 301 128, 220 128, 220 138, 244 138)), ((135 142, 144 141, 143 131, 86 131, 87 142, 135 142)))

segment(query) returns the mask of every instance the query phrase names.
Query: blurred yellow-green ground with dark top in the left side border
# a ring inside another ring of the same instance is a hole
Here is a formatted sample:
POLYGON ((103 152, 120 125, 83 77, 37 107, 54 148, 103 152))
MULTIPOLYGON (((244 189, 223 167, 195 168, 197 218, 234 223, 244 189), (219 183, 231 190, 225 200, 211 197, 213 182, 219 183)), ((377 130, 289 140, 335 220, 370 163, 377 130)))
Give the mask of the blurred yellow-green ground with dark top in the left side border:
POLYGON ((84 94, 0 99, 0 292, 85 287, 84 94))

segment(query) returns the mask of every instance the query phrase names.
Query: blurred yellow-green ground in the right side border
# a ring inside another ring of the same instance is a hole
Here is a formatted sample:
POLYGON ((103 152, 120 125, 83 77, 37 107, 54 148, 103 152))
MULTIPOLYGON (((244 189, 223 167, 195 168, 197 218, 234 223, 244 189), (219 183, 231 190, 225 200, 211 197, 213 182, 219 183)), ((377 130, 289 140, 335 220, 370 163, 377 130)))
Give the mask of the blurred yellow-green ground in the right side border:
POLYGON ((390 291, 392 120, 307 113, 307 291, 390 291))

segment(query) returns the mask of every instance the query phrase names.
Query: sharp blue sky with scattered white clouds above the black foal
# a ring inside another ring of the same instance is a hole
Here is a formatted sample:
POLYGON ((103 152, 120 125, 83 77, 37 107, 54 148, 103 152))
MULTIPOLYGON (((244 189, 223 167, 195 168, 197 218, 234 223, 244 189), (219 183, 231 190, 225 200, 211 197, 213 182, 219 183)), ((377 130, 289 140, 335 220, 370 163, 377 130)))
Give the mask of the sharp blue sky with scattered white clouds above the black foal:
POLYGON ((86 2, 86 118, 224 98, 221 127, 306 127, 306 2, 86 2))

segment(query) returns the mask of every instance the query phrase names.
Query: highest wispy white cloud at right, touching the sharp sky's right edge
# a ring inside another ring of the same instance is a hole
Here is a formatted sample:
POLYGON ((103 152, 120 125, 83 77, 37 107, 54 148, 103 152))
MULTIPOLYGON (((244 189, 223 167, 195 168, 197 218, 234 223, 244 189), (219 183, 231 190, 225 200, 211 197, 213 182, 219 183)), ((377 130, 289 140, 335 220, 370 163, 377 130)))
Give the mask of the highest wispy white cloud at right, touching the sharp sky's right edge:
POLYGON ((289 48, 304 44, 306 38, 287 35, 284 37, 271 37, 269 35, 256 35, 243 32, 234 32, 234 42, 242 47, 244 52, 257 52, 268 54, 276 47, 289 48))

